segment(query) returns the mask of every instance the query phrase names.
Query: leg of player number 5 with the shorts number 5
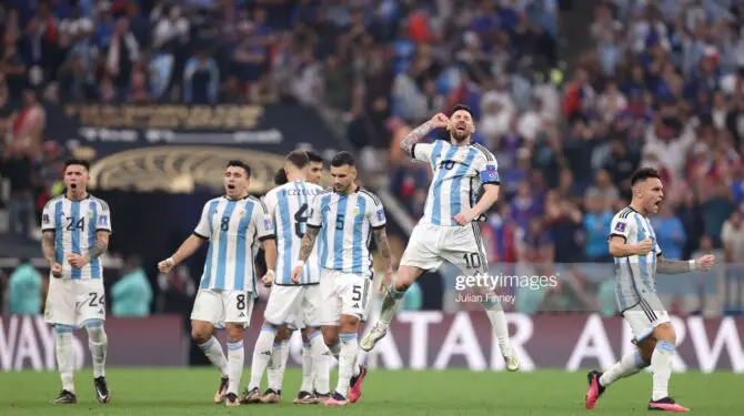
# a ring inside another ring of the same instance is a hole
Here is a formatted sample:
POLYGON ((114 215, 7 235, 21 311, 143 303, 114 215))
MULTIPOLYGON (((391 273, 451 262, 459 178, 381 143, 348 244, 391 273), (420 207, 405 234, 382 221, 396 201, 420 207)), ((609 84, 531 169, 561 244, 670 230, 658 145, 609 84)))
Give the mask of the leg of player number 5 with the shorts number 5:
POLYGON ((339 319, 339 381, 325 406, 345 406, 355 403, 362 395, 362 383, 366 368, 358 363, 359 323, 365 317, 366 294, 371 281, 359 275, 345 274, 336 277, 336 293, 341 301, 339 319))

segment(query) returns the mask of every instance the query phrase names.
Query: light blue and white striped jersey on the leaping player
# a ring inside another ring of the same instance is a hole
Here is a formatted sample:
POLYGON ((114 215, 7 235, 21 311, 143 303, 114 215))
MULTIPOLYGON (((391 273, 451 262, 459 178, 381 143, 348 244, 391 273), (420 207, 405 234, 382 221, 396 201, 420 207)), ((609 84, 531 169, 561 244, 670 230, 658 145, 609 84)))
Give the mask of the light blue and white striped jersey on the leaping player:
MULTIPOLYGON (((484 184, 501 183, 496 158, 477 143, 466 146, 443 140, 416 143, 411 156, 429 163, 434 172, 420 223, 460 226, 452 217, 477 203, 484 184)), ((475 220, 484 221, 485 216, 475 220)))

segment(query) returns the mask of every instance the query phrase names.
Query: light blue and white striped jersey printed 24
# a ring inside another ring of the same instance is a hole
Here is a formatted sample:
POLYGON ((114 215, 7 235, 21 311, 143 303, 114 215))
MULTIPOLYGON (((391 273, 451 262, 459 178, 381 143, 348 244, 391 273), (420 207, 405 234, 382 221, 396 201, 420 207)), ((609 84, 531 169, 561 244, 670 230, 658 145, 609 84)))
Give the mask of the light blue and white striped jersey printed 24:
POLYGON ((64 195, 53 197, 41 214, 41 230, 54 232, 54 261, 62 265, 62 278, 103 278, 100 257, 81 268, 67 261, 68 254, 86 254, 93 247, 97 231, 111 232, 111 212, 103 200, 91 194, 81 201, 64 195))

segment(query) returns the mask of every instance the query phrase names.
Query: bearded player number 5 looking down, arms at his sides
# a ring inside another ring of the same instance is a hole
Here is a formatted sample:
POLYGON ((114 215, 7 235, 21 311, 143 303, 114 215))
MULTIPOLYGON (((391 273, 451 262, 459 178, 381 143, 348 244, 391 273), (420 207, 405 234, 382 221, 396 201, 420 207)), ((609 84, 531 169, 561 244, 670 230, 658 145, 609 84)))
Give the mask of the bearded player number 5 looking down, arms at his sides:
POLYGON ((333 190, 315 196, 308 231, 292 281, 301 282, 315 240, 320 239, 322 331, 331 354, 339 358, 339 382, 325 406, 355 403, 362 394, 366 368, 356 363, 359 322, 365 319, 369 286, 373 276, 368 247, 373 233, 384 261, 385 278, 392 278, 392 262, 385 212, 380 200, 354 183, 354 156, 341 152, 331 161, 333 190), (319 236, 320 235, 320 236, 319 236), (339 339, 341 343, 339 344, 339 339))

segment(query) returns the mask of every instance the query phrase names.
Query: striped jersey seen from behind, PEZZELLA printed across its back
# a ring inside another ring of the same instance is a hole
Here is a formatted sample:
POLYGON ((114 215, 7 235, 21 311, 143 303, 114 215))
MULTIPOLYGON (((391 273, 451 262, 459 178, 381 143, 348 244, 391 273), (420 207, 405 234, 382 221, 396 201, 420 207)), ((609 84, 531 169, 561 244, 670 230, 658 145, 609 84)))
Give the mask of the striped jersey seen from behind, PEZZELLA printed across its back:
MULTIPOLYGON (((311 182, 293 181, 277 186, 263 196, 269 215, 277 224, 277 277, 274 284, 291 285, 292 268, 300 257, 302 237, 305 235, 310 202, 323 192, 323 187, 311 182)), ((310 253, 300 277, 300 284, 320 283, 319 243, 310 253)))

